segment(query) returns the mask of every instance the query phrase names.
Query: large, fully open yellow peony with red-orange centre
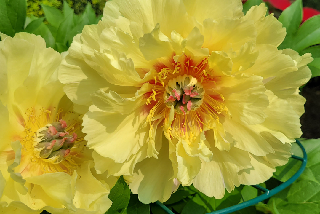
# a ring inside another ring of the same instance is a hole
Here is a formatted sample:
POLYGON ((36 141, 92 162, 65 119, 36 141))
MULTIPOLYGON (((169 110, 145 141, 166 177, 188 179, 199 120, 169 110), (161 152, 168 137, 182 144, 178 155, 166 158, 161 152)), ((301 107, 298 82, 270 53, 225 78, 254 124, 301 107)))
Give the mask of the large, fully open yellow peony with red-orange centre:
POLYGON ((181 183, 221 198, 272 176, 301 135, 312 61, 277 50, 286 35, 264 4, 113 0, 74 38, 59 70, 89 107, 87 147, 99 173, 132 175, 144 203, 181 183))

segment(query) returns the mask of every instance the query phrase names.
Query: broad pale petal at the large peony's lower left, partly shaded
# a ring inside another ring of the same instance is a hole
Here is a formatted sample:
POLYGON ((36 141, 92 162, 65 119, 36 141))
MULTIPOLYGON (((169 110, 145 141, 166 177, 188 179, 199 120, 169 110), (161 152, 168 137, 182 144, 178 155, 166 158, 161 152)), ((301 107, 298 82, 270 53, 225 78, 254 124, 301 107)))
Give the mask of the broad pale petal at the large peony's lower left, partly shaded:
POLYGON ((82 131, 87 133, 87 147, 115 162, 125 162, 139 151, 148 137, 147 115, 138 110, 126 115, 108 113, 91 106, 83 117, 82 131), (122 152, 114 152, 119 149, 122 152))

